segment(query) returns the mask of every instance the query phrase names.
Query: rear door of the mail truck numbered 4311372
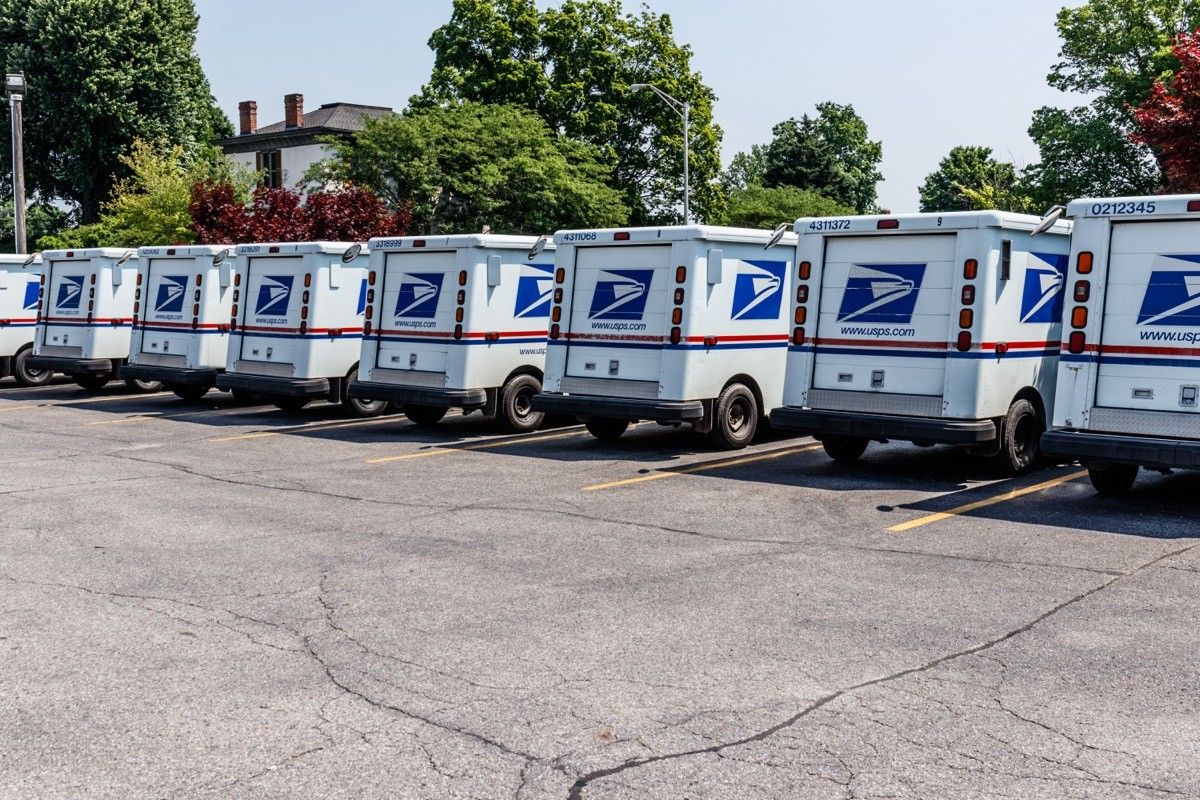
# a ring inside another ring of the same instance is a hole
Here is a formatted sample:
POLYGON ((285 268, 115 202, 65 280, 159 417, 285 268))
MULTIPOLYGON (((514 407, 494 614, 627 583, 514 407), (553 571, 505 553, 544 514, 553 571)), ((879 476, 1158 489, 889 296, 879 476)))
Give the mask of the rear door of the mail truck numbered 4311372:
POLYGON ((954 234, 826 240, 812 386, 941 396, 954 234))

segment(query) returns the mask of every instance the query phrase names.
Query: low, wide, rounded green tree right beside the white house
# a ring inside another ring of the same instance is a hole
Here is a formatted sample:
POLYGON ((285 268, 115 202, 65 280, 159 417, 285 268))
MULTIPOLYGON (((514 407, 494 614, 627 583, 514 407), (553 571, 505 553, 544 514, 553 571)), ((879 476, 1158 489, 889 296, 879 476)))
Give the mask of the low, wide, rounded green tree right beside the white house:
POLYGON ((310 180, 377 191, 412 230, 546 234, 625 224, 629 209, 595 148, 515 106, 456 103, 368 120, 310 180))

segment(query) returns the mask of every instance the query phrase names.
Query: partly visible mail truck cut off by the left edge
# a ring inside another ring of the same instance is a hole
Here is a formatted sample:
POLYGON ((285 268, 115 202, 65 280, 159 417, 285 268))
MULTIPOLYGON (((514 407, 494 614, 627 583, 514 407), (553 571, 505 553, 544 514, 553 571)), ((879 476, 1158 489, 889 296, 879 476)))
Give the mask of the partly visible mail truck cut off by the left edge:
POLYGON ((41 297, 41 255, 0 255, 0 378, 12 375, 18 386, 41 386, 54 377, 29 366, 41 297))

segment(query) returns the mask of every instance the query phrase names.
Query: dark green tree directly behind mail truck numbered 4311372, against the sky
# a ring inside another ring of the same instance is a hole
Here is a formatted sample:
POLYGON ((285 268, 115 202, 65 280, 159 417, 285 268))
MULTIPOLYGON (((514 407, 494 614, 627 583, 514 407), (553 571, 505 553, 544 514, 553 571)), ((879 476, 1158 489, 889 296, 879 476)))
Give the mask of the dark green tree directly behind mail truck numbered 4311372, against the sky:
POLYGON ((883 146, 868 137, 852 106, 821 103, 772 128, 763 152, 763 185, 794 186, 833 198, 860 213, 875 207, 883 146))

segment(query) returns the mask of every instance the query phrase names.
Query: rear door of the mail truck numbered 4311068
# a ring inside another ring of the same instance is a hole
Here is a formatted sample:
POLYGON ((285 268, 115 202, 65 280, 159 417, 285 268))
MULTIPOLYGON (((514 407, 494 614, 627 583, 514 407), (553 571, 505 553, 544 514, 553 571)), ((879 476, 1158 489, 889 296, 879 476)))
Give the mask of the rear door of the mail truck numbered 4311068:
POLYGON ((577 247, 566 374, 658 381, 672 285, 670 245, 577 247))

